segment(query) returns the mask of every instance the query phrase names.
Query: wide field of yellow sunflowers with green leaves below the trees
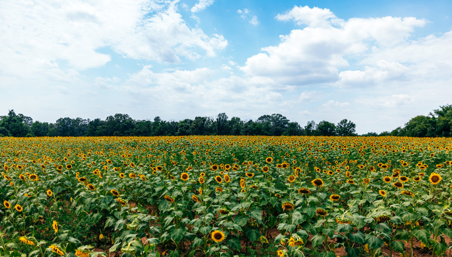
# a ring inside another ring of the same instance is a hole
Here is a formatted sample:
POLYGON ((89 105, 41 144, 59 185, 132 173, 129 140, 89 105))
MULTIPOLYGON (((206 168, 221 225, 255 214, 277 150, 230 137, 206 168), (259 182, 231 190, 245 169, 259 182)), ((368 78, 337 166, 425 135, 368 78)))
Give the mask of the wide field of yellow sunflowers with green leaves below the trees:
POLYGON ((0 256, 450 256, 451 144, 0 138, 0 256))

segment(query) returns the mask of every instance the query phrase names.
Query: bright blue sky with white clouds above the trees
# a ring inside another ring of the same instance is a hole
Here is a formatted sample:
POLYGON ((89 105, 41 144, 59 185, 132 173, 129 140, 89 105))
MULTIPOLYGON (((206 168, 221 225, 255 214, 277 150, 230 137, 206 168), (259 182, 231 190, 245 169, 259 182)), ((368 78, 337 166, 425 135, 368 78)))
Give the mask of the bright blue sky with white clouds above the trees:
POLYGON ((391 131, 452 104, 452 1, 2 0, 0 115, 391 131))

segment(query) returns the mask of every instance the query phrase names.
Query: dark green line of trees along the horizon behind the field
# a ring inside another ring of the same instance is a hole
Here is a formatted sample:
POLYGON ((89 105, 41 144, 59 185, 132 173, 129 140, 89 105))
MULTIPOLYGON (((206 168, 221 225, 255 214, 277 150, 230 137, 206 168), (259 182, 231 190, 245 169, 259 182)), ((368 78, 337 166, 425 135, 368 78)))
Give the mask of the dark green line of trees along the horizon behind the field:
MULTIPOLYGON (((195 117, 179 121, 135 120, 127 114, 115 114, 101 119, 69 117, 55 123, 34 121, 31 117, 9 110, 0 116, 0 136, 12 137, 78 137, 78 136, 186 136, 186 135, 264 135, 264 136, 358 136, 356 124, 347 119, 334 124, 325 120, 306 126, 291 122, 281 114, 262 115, 256 120, 228 118, 226 113, 213 117, 195 117)), ((440 106, 429 115, 418 115, 398 127, 381 133, 360 136, 451 137, 452 105, 440 106)))

